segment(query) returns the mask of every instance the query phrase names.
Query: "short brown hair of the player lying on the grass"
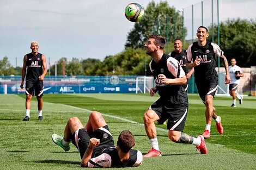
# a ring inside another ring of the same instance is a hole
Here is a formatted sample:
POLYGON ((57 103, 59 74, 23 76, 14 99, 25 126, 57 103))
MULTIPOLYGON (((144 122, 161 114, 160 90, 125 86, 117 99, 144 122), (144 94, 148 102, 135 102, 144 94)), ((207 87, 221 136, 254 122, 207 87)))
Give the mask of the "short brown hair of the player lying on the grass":
POLYGON ((121 131, 120 135, 118 136, 117 145, 120 147, 120 149, 128 153, 131 148, 135 144, 135 139, 132 133, 129 130, 123 130, 121 131))

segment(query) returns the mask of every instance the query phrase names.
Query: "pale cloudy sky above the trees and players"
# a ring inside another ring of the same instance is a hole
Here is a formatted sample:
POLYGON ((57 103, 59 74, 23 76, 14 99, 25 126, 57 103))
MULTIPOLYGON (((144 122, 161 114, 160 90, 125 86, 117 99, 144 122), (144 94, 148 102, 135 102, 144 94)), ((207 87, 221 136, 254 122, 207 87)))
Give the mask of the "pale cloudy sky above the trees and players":
MULTIPOLYGON (((23 56, 31 52, 30 42, 39 42, 39 52, 47 58, 47 65, 62 57, 103 60, 124 50, 126 36, 134 23, 126 20, 124 9, 136 2, 147 7, 150 1, 137 0, 0 0, 0 60, 8 56, 13 66, 22 66, 23 56)), ((159 3, 160 1, 155 1, 159 3)), ((175 9, 184 9, 186 39, 191 39, 191 5, 195 23, 200 23, 202 1, 167 1, 175 9)), ((204 2, 204 25, 211 23, 209 6, 204 2)), ((214 0, 216 3, 217 0, 214 0)), ((256 1, 220 0, 220 21, 227 18, 256 18, 256 1)), ((216 11, 215 11, 216 13, 216 11)), ((217 18, 214 18, 216 22, 217 18)), ((195 35, 195 34, 194 34, 195 35)))

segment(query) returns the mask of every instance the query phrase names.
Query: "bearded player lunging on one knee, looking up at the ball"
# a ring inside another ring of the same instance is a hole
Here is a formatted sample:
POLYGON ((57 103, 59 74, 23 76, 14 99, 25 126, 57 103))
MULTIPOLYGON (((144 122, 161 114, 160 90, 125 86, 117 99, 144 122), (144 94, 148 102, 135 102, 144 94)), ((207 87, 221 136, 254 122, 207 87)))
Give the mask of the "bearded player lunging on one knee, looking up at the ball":
POLYGON ((144 157, 162 156, 157 141, 155 121, 163 124, 167 120, 168 137, 176 143, 194 144, 200 153, 206 154, 204 137, 197 138, 183 133, 187 112, 188 98, 182 85, 186 84, 186 75, 179 61, 163 53, 165 40, 160 35, 149 35, 145 44, 146 53, 151 56, 149 67, 153 73, 156 87, 150 89, 150 96, 158 91, 160 98, 144 114, 144 126, 151 149, 144 157))

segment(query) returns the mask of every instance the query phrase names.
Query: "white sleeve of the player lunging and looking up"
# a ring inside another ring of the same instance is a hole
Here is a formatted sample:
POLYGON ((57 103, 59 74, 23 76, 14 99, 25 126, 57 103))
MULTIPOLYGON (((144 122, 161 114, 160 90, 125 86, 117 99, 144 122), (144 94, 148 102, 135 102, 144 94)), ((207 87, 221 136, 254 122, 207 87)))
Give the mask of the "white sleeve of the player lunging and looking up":
POLYGON ((176 78, 181 78, 185 75, 180 62, 172 57, 167 59, 167 67, 170 73, 172 73, 176 78))

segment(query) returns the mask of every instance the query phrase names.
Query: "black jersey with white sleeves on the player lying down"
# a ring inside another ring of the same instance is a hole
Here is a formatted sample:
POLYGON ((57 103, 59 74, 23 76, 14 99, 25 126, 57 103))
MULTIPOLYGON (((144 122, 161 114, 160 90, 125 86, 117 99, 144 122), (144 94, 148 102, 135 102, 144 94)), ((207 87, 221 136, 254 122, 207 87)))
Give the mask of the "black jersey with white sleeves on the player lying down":
POLYGON ((102 154, 96 155, 91 158, 87 165, 89 168, 121 168, 121 167, 133 167, 142 164, 143 155, 139 150, 130 150, 130 157, 127 161, 121 162, 117 147, 110 147, 103 150, 102 154))

